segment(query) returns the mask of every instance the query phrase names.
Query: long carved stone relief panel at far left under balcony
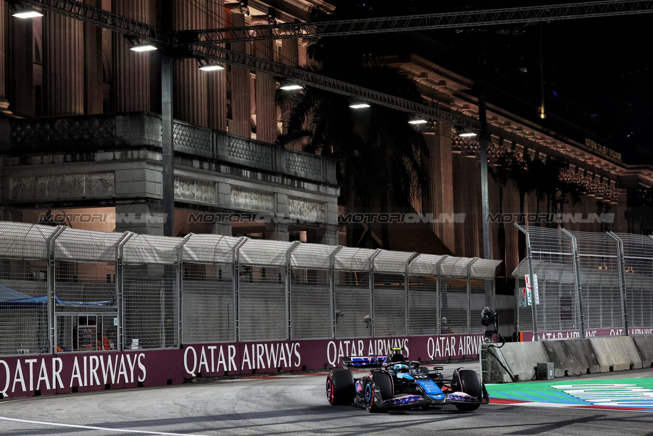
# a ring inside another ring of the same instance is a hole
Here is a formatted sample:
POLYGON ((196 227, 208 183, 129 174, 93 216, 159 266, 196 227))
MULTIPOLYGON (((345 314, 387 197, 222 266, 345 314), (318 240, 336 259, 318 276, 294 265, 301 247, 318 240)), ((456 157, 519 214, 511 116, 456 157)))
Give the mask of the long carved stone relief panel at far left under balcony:
POLYGON ((71 198, 82 196, 114 195, 115 175, 50 174, 46 176, 16 176, 11 178, 11 198, 71 198))

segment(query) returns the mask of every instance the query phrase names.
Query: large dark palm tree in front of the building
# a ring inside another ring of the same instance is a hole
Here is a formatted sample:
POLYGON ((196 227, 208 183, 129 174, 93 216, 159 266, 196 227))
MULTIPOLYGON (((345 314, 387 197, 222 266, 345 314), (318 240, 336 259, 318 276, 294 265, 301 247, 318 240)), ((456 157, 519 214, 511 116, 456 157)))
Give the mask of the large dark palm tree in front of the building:
MULTIPOLYGON (((315 8, 311 14, 315 20, 338 18, 315 8)), ((353 44, 347 37, 320 38, 310 44, 308 55, 312 61, 302 67, 305 70, 424 102, 413 78, 374 59, 360 39, 353 44)), ((289 114, 277 142, 334 157, 348 212, 412 208, 411 200, 425 194, 428 178, 421 157, 428 156, 428 149, 422 134, 409 125, 408 114, 379 105, 357 112, 349 108, 347 97, 311 86, 291 95, 278 91, 277 101, 289 114)), ((380 233, 381 245, 387 248, 387 224, 381 225, 380 233)))

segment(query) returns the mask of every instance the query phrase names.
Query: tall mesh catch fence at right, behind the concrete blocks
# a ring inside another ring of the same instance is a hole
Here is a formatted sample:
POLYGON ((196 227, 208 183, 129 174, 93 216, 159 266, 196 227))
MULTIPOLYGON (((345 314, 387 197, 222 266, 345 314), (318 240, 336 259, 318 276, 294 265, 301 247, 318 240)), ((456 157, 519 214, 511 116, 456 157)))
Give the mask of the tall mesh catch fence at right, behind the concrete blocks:
POLYGON ((518 227, 529 255, 513 272, 517 296, 530 272, 537 283, 535 304, 517 299, 518 331, 535 340, 653 333, 650 236, 518 227))

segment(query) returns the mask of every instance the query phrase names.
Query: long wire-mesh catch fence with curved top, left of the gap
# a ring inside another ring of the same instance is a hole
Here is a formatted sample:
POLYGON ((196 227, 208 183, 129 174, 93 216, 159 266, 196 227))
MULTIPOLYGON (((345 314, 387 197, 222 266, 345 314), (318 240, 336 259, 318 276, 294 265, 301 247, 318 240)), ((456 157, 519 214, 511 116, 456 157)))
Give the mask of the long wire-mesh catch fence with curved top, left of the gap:
POLYGON ((0 221, 0 355, 478 333, 498 263, 0 221))

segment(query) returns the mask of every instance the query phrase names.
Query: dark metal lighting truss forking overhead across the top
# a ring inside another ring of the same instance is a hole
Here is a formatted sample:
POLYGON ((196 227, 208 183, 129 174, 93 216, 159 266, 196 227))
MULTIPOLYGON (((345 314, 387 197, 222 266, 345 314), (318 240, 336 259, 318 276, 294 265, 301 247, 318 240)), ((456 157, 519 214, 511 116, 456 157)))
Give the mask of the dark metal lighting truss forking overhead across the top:
POLYGON ((146 23, 131 20, 100 8, 84 5, 84 3, 75 0, 20 0, 20 3, 92 23, 142 42, 158 43, 164 52, 175 57, 200 56, 206 59, 215 59, 238 67, 245 67, 250 70, 273 74, 274 76, 290 79, 302 84, 327 89, 328 91, 333 91, 348 97, 355 97, 361 101, 396 108, 404 112, 410 112, 415 116, 428 117, 434 121, 443 121, 477 131, 483 130, 484 126, 481 121, 473 117, 439 110, 373 91, 372 89, 366 89, 341 82, 340 80, 320 76, 319 74, 313 74, 302 69, 241 54, 227 50, 217 44, 227 40, 229 42, 236 42, 296 37, 361 35, 364 33, 389 31, 447 29, 452 27, 473 27, 501 23, 524 23, 567 20, 570 18, 641 14, 653 11, 653 0, 603 0, 540 7, 504 8, 323 23, 286 23, 167 33, 146 23), (190 50, 187 50, 188 48, 190 50))

